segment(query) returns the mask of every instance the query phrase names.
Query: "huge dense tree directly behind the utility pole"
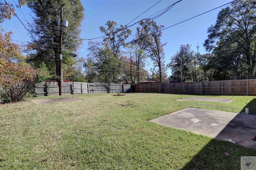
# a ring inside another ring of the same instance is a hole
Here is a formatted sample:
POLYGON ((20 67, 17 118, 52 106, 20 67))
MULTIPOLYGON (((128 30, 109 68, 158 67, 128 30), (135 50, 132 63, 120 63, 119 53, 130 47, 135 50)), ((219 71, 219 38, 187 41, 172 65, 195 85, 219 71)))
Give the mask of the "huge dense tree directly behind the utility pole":
POLYGON ((26 0, 26 3, 34 13, 34 23, 30 24, 30 32, 34 35, 32 43, 38 45, 35 53, 28 56, 28 61, 36 67, 44 61, 49 70, 58 75, 60 30, 63 29, 62 49, 66 51, 63 63, 68 65, 70 60, 74 60, 69 53, 74 53, 82 43, 79 38, 84 8, 80 0, 26 0), (68 28, 58 26, 62 4, 65 4, 63 18, 68 20, 68 28))

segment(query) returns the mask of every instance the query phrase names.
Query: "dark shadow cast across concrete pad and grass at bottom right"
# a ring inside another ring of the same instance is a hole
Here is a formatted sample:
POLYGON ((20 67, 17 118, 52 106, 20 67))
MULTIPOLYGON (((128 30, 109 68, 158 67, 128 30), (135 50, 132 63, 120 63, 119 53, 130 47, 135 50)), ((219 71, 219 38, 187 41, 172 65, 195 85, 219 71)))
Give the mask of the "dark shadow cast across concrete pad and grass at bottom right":
MULTIPOLYGON (((250 102, 252 106, 256 100, 250 102)), ((240 170, 241 156, 256 156, 256 116, 238 114, 200 152, 192 157, 183 170, 240 170), (232 139, 236 142, 224 141, 232 139), (238 145, 239 144, 239 145, 238 145), (244 147, 246 146, 246 147, 244 147)))

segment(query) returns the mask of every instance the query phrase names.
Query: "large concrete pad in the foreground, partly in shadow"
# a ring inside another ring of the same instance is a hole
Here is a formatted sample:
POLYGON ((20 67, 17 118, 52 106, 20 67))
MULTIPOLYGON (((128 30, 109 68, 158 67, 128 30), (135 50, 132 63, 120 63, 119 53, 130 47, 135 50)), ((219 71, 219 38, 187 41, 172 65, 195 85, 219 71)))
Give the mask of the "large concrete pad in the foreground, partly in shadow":
POLYGON ((236 144, 256 149, 252 140, 256 135, 255 115, 187 108, 151 121, 220 140, 232 139, 236 144))

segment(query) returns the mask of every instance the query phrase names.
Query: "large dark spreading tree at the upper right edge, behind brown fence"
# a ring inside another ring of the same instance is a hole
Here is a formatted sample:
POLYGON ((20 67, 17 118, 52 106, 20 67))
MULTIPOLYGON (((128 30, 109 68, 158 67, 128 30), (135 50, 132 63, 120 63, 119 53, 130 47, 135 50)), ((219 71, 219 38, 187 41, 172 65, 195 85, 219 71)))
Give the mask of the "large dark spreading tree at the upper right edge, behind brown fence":
POLYGON ((248 77, 255 77, 252 73, 256 64, 256 1, 236 0, 222 9, 216 24, 208 28, 204 47, 209 52, 213 50, 217 57, 221 54, 220 59, 224 57, 222 51, 231 47, 231 56, 225 58, 230 63, 239 60, 240 66, 245 63, 248 77))

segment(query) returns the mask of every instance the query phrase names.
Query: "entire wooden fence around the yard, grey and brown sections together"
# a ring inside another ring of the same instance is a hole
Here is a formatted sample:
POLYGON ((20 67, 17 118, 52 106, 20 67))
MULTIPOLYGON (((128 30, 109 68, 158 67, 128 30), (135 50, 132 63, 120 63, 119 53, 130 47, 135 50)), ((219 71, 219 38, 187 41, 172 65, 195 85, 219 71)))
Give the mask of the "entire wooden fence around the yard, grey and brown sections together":
MULTIPOLYGON (((62 94, 88 93, 172 93, 202 95, 256 95, 256 79, 203 81, 191 83, 146 83, 136 85, 116 83, 62 82, 62 94)), ((36 84, 36 96, 58 95, 58 82, 36 84)))

